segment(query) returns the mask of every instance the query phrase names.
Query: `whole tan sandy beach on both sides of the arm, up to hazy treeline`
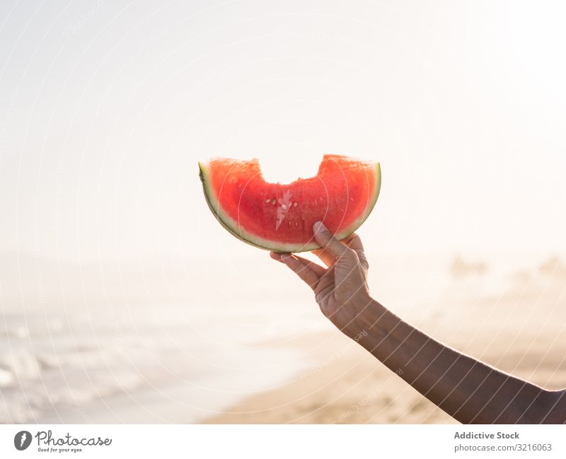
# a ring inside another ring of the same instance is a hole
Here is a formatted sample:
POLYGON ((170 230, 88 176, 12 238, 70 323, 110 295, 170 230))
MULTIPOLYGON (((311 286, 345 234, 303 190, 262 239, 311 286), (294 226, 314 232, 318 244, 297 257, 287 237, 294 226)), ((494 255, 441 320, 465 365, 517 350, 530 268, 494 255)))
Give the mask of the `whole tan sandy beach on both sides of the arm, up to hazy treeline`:
MULTIPOLYGON (((564 388, 566 310, 560 298, 565 276, 563 265, 550 262, 538 272, 514 274, 496 295, 456 282, 439 298, 440 312, 413 323, 499 370, 545 388, 564 388)), ((308 349, 317 363, 282 388, 248 397, 208 422, 456 423, 338 331, 297 339, 294 345, 308 349)))

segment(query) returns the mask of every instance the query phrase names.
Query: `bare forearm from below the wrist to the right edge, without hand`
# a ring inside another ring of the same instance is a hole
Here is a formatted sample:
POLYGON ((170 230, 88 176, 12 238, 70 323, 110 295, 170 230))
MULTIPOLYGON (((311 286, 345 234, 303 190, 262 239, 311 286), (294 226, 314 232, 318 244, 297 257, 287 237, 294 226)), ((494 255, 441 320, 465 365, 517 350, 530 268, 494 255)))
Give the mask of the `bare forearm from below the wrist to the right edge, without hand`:
POLYGON ((459 422, 555 422, 556 393, 444 346, 376 301, 342 328, 365 331, 362 346, 459 422))

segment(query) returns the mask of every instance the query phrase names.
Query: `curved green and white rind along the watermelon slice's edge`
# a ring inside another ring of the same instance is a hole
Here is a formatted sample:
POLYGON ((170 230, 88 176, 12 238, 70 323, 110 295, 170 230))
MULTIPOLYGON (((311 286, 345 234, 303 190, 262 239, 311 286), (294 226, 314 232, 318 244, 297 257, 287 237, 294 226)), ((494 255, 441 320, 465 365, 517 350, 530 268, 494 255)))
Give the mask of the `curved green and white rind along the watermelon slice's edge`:
MULTIPOLYGON (((204 197, 207 201, 209 209, 216 217, 216 220, 218 220, 219 223, 236 238, 249 245, 253 245, 254 247, 261 248, 263 250, 272 250, 273 252, 309 252, 311 250, 320 248, 320 245, 316 243, 314 237, 313 241, 307 244, 285 244, 248 233, 245 229, 241 228, 238 222, 232 219, 231 216, 226 214, 226 212, 221 209, 220 204, 215 197, 214 190, 210 186, 210 180, 208 180, 207 165, 199 161, 199 170, 200 180, 202 182, 202 190, 204 191, 204 197)), ((371 211, 374 210, 374 207, 377 203, 377 198, 379 197, 379 192, 381 190, 381 165, 379 163, 376 163, 375 174, 376 186, 374 190, 374 196, 366 207, 366 211, 364 212, 364 214, 362 214, 362 216, 359 217, 359 219, 354 221, 352 225, 336 234, 335 237, 337 239, 345 239, 352 233, 354 233, 354 231, 356 231, 360 226, 362 226, 362 223, 366 221, 366 219, 369 217, 369 214, 371 214, 371 211)))

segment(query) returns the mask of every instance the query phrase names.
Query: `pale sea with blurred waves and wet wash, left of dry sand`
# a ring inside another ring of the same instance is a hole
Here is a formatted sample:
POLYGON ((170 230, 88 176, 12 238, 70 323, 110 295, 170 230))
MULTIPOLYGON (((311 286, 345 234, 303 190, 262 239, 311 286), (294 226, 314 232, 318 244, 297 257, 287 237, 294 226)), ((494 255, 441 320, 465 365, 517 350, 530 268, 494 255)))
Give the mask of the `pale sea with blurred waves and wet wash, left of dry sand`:
POLYGON ((306 305, 93 306, 0 323, 0 422, 195 422, 300 373, 306 305), (279 311, 279 312, 278 312, 279 311), (282 345, 272 343, 283 339, 282 345))

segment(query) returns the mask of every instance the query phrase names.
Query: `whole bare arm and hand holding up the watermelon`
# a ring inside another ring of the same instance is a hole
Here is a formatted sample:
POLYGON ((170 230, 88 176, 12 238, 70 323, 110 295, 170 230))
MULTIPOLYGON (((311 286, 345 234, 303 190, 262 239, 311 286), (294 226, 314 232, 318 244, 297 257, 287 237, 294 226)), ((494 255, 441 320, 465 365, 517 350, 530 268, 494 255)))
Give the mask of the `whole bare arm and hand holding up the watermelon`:
POLYGON ((326 267, 271 252, 313 289, 323 314, 345 335, 464 424, 565 424, 566 390, 546 390, 441 344, 371 298, 368 262, 356 234, 337 240, 315 223, 326 267), (361 337, 361 338, 360 338, 361 337))

